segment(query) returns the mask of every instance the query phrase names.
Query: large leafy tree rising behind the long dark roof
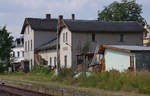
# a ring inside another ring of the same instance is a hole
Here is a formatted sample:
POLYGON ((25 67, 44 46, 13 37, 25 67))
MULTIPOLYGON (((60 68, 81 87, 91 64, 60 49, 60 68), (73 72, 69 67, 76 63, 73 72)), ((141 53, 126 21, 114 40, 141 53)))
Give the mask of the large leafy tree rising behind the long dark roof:
POLYGON ((136 0, 114 1, 98 13, 98 19, 99 21, 137 21, 144 25, 141 13, 142 5, 136 3, 136 0))

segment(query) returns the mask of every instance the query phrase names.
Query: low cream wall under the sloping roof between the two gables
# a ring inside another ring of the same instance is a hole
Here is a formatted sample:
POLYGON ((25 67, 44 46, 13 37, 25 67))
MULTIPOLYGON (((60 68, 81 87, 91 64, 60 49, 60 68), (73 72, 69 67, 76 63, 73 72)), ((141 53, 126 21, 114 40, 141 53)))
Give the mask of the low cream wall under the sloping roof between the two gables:
POLYGON ((38 54, 41 55, 43 59, 48 61, 48 65, 50 65, 50 58, 52 60, 51 61, 52 66, 54 66, 54 58, 56 58, 56 64, 57 64, 57 52, 56 52, 56 50, 44 50, 44 51, 38 52, 38 54))

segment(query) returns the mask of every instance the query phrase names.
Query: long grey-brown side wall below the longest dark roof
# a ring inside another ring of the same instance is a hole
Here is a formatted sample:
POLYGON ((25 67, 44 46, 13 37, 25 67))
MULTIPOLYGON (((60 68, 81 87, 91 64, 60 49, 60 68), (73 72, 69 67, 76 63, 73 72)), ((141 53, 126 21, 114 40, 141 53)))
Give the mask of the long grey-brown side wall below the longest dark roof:
MULTIPOLYGON (((122 32, 123 33, 123 32, 122 32)), ((81 49, 86 42, 90 42, 90 51, 95 50, 97 45, 142 45, 143 44, 143 33, 123 33, 124 42, 120 42, 120 34, 122 33, 95 33, 95 42, 92 41, 92 32, 90 33, 81 33, 81 32, 72 32, 72 63, 76 67, 76 54, 79 51, 79 45, 81 49)))

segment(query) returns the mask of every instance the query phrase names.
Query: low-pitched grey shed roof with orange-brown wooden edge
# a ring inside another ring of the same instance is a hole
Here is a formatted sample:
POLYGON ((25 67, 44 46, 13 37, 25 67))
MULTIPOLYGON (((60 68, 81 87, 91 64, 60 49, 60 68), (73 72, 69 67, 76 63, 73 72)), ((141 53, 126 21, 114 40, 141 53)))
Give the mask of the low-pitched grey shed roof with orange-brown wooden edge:
POLYGON ((99 53, 104 53, 105 49, 111 49, 123 52, 150 52, 150 47, 136 45, 102 45, 99 48, 99 53))

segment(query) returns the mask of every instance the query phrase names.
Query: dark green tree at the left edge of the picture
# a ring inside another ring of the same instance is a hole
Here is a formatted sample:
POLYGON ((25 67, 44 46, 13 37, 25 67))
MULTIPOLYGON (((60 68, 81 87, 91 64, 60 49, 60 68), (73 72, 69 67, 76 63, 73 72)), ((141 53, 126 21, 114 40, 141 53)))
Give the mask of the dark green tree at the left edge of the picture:
POLYGON ((12 42, 13 37, 6 30, 6 26, 0 28, 0 60, 5 60, 9 63, 12 42))

